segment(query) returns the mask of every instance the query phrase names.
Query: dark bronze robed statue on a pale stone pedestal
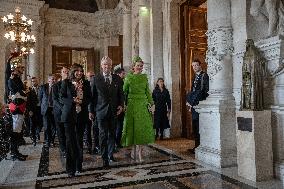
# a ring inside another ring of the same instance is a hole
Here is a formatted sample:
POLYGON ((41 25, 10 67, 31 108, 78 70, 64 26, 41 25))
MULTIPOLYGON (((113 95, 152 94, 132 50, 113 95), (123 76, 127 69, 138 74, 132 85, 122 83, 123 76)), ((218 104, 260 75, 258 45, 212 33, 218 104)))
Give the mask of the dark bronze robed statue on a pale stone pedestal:
POLYGON ((263 110, 263 85, 267 70, 265 59, 252 39, 246 41, 242 67, 242 96, 240 110, 263 110))

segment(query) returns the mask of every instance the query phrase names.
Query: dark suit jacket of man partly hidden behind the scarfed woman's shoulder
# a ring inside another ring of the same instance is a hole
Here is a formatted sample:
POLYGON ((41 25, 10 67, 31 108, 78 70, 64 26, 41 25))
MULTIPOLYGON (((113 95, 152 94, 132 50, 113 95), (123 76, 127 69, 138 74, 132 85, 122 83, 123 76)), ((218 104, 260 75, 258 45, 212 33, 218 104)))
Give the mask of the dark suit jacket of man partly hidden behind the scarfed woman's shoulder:
POLYGON ((55 120, 58 122, 61 120, 61 113, 63 108, 63 103, 60 98, 61 81, 55 83, 52 87, 52 99, 53 99, 53 114, 55 120))

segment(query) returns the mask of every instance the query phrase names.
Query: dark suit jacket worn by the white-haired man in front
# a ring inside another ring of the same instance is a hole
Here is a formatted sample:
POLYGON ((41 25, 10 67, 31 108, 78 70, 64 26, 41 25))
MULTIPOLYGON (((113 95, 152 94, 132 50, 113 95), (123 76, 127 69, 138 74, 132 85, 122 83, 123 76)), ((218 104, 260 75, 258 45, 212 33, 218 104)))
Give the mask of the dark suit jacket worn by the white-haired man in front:
POLYGON ((112 117, 116 116, 117 107, 124 105, 124 94, 122 90, 122 79, 112 74, 110 87, 107 86, 103 74, 98 74, 91 81, 92 101, 89 107, 91 113, 96 113, 97 119, 104 119, 109 108, 112 117))

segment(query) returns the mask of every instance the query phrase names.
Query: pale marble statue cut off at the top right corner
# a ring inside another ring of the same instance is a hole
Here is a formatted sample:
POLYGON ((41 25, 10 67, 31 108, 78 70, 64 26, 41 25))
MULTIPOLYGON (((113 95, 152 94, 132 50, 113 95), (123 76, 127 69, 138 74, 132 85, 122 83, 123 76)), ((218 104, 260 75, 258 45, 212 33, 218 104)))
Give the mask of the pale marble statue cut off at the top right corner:
POLYGON ((257 20, 268 21, 268 36, 284 34, 284 0, 252 0, 250 14, 257 20), (267 14, 262 7, 266 8, 267 14))

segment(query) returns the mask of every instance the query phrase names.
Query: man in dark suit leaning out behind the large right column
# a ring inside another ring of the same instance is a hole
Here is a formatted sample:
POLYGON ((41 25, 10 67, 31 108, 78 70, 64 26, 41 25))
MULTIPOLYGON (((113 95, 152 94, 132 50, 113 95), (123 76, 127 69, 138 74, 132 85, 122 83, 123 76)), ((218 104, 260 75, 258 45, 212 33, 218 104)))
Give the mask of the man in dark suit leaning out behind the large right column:
POLYGON ((186 97, 186 105, 189 106, 189 111, 191 111, 192 114, 192 128, 195 136, 195 146, 189 151, 195 153, 195 148, 200 144, 200 135, 199 113, 195 111, 194 106, 198 105, 199 101, 205 100, 208 97, 209 77, 207 73, 202 71, 201 62, 199 60, 194 60, 192 62, 192 68, 195 76, 191 85, 191 91, 186 97))

